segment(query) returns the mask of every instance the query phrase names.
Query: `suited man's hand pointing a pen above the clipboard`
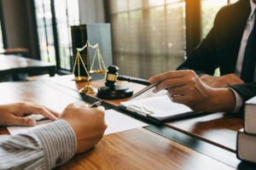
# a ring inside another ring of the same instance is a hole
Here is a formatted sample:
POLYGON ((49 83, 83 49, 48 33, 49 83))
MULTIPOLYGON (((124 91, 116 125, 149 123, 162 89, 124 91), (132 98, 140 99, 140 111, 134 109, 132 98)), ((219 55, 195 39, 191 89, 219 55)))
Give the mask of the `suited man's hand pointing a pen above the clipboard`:
POLYGON ((188 105, 193 111, 234 111, 236 96, 229 88, 211 88, 194 71, 169 71, 151 77, 151 83, 160 82, 154 93, 168 89, 173 102, 188 105))

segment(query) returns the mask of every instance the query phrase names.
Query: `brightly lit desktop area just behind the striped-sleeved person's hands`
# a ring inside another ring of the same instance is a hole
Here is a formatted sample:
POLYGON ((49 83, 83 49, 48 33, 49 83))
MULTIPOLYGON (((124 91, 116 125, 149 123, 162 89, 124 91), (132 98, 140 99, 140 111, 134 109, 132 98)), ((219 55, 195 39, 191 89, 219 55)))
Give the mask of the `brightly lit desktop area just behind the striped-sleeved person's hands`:
POLYGON ((45 105, 58 112, 63 111, 68 104, 79 101, 65 91, 42 82, 2 82, 0 94, 0 105, 26 102, 45 105))

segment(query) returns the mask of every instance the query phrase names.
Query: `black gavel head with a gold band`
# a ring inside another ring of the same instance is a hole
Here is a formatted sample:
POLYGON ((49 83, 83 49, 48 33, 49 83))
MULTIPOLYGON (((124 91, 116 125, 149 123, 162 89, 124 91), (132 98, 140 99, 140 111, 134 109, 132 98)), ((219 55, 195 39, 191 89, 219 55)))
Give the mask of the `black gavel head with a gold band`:
POLYGON ((114 88, 116 86, 116 81, 119 77, 119 67, 115 65, 108 66, 108 71, 106 75, 106 82, 105 85, 109 88, 114 88))

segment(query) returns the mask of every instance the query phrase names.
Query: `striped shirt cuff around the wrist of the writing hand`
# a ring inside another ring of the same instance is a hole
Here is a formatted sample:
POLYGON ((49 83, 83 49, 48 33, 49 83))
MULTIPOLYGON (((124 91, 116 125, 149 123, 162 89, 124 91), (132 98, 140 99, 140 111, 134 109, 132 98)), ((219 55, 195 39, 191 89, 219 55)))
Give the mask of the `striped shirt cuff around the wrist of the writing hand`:
POLYGON ((59 166, 71 159, 77 148, 76 136, 68 122, 60 119, 31 131, 40 140, 47 169, 59 166))

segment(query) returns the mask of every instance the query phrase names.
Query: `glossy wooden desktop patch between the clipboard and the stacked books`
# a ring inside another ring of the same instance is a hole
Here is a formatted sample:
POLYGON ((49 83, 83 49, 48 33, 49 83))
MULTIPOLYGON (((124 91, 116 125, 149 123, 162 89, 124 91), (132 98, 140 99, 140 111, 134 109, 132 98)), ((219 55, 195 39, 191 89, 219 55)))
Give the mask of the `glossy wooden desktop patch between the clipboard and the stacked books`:
POLYGON ((225 150, 236 152, 236 135, 243 127, 243 120, 231 113, 213 113, 167 122, 166 126, 218 145, 225 150))

